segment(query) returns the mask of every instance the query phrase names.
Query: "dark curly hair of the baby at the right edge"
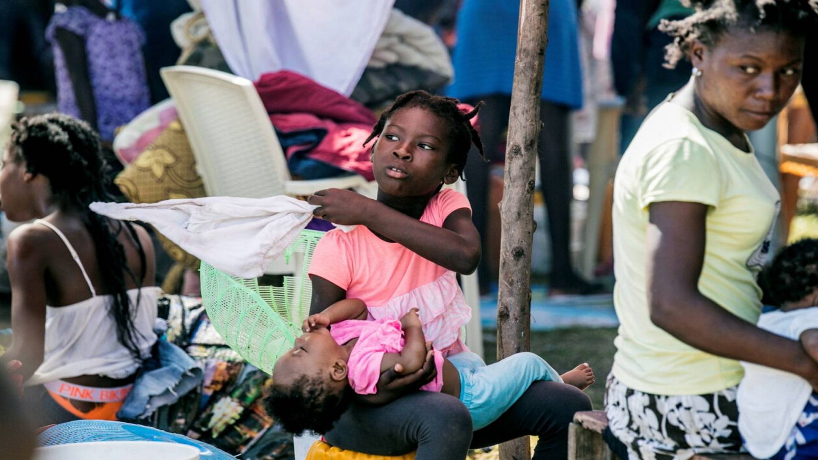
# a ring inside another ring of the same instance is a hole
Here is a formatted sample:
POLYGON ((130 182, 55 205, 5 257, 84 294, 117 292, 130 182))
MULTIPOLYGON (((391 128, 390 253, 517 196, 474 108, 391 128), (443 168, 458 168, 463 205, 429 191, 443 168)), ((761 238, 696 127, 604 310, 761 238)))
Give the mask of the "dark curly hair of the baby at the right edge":
POLYGON ((785 247, 759 281, 767 299, 777 306, 810 295, 818 288, 818 239, 806 238, 785 247))

